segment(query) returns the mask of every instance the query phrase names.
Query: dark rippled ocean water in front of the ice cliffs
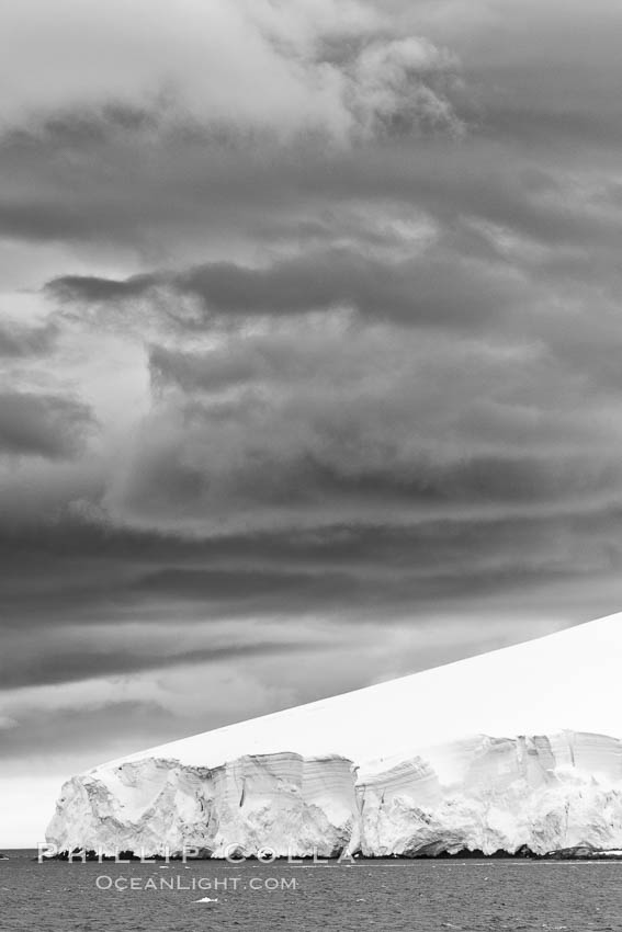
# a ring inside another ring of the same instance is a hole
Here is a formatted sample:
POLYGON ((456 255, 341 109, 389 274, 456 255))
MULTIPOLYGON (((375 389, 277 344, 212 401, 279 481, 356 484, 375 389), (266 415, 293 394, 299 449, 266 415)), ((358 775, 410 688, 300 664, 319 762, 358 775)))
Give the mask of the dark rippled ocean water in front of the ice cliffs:
POLYGON ((202 861, 185 868, 39 865, 23 855, 0 862, 2 932, 372 929, 619 932, 622 863, 375 861, 295 867, 202 861), (217 901, 196 902, 206 896, 217 901))

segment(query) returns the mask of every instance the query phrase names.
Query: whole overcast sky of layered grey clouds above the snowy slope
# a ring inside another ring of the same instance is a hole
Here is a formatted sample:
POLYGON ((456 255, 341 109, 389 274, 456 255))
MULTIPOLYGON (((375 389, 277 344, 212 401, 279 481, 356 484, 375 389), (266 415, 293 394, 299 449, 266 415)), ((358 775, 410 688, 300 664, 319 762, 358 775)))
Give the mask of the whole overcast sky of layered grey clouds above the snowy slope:
POLYGON ((620 609, 622 4, 1 20, 0 845, 620 609))

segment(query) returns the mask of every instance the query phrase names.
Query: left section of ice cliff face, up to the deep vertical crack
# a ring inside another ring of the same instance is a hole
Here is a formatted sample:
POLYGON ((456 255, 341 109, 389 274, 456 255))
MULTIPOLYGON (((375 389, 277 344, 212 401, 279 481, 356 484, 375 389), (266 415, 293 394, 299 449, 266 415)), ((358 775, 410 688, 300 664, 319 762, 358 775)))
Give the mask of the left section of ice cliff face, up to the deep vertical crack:
POLYGON ((63 788, 49 836, 63 850, 86 845, 163 853, 185 845, 224 857, 239 848, 286 855, 344 849, 357 796, 351 762, 282 753, 208 770, 149 758, 63 788))

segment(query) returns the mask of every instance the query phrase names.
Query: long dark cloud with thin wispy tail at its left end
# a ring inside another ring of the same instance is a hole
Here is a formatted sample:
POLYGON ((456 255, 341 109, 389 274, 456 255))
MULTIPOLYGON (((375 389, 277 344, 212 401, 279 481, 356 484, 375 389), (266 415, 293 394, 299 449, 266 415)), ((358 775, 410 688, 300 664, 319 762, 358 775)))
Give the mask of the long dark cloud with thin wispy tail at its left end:
POLYGON ((213 263, 177 275, 126 281, 67 276, 48 283, 60 299, 118 302, 157 285, 197 298, 207 314, 281 315, 354 307, 363 316, 404 322, 470 327, 507 310, 521 294, 506 268, 478 265, 442 250, 380 262, 352 252, 308 252, 269 269, 213 263))

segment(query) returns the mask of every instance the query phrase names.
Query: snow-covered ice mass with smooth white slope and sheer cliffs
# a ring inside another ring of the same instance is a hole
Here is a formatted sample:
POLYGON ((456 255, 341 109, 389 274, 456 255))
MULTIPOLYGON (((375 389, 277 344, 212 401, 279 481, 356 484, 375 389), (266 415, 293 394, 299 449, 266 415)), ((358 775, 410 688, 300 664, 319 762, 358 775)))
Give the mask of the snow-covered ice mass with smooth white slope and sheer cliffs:
POLYGON ((103 764, 59 850, 622 848, 622 615, 103 764))

